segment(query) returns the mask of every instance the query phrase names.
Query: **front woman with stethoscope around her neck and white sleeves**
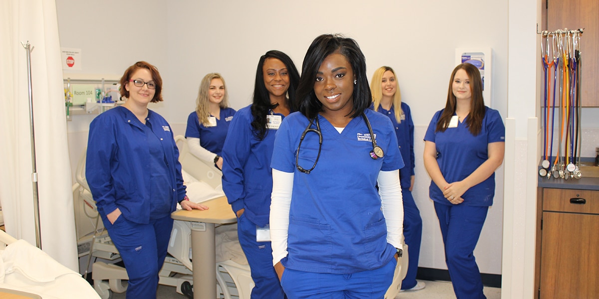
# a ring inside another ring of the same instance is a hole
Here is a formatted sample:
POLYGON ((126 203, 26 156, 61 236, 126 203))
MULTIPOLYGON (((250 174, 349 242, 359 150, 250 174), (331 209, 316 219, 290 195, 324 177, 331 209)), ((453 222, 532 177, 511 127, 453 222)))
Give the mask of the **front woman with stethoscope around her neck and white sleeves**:
POLYGON ((277 132, 271 239, 289 298, 382 298, 391 285, 403 160, 389 118, 368 109, 365 71, 353 39, 318 36, 305 54, 299 111, 277 132))

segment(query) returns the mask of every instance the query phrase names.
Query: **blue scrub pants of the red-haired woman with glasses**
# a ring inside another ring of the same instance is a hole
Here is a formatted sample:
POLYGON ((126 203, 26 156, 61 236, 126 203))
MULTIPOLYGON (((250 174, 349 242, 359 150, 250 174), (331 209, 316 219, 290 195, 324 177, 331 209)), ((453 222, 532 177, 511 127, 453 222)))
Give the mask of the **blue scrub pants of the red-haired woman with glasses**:
POLYGON ((127 299, 156 299, 158 272, 167 257, 173 219, 170 214, 149 224, 131 222, 123 215, 110 224, 102 217, 129 276, 127 299))

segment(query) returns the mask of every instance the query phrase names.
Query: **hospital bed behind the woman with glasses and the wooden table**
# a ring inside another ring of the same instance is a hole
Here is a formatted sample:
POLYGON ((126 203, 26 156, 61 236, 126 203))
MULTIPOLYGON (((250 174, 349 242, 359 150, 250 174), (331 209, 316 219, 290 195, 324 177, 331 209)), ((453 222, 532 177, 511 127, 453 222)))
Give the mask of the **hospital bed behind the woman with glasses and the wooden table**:
MULTIPOLYGON (((179 160, 187 186, 187 196, 190 200, 202 202, 223 196, 220 170, 191 154, 183 136, 177 136, 176 142, 180 151, 179 160)), ((108 263, 96 261, 92 266, 94 288, 103 299, 106 299, 110 297, 110 292, 126 291, 126 283, 123 280, 127 280, 128 276, 124 268, 114 264, 120 261, 120 256, 99 219, 85 179, 85 158, 86 152, 78 161, 75 173, 77 182, 73 185, 78 252, 80 257, 92 252, 94 259, 107 260, 108 263)), ((176 286, 180 294, 184 294, 184 282, 192 283, 190 225, 186 221, 174 221, 168 247, 169 255, 159 273, 159 283, 176 286)), ((215 228, 215 232, 217 293, 223 299, 249 298, 253 280, 237 239, 237 224, 220 225, 215 228)), ((91 259, 90 257, 89 260, 91 259)), ((89 263, 84 271, 87 269, 89 263)))

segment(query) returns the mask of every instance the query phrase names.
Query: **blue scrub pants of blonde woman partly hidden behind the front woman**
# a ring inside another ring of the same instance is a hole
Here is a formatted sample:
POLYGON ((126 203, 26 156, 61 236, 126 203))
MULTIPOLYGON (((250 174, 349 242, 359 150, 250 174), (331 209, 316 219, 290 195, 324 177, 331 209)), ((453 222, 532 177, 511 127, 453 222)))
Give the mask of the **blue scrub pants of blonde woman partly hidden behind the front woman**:
POLYGON ((401 289, 411 289, 416 286, 416 273, 420 257, 420 242, 422 241, 422 218, 420 210, 414 202, 412 191, 401 188, 404 201, 404 240, 408 245, 408 271, 401 282, 401 289))

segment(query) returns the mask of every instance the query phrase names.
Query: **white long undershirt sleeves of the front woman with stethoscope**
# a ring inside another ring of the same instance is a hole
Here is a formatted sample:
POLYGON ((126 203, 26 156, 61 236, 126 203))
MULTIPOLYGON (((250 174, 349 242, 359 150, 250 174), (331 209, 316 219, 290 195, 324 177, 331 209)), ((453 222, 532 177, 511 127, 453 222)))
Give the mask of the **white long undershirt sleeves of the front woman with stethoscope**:
MULTIPOLYGON (((387 242, 401 248, 404 229, 404 206, 401 196, 399 170, 381 171, 377 178, 381 209, 387 224, 387 242)), ((270 238, 273 266, 286 257, 289 230, 289 208, 294 173, 273 169, 273 193, 270 204, 270 238)))

